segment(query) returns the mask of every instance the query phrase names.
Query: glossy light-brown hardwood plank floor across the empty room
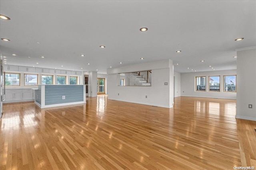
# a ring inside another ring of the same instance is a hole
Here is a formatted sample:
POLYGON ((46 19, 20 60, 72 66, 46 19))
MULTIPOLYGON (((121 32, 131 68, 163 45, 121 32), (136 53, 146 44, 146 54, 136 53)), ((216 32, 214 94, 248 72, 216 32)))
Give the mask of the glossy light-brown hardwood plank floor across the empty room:
POLYGON ((256 166, 256 121, 236 100, 177 97, 173 108, 87 98, 40 109, 6 104, 1 170, 234 169, 256 166))

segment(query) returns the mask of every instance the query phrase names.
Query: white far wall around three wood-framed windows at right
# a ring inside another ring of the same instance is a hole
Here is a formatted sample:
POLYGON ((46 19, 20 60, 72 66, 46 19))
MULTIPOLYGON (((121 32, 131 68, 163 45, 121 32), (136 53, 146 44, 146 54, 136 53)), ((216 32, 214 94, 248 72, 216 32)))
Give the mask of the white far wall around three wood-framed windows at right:
MULTIPOLYGON (((181 73, 181 96, 236 99, 236 92, 223 92, 223 75, 236 75, 236 70, 181 73), (195 77, 206 76, 206 92, 195 91, 195 77), (220 76, 220 92, 208 92, 208 76, 220 76)), ((237 78, 238 79, 238 78, 237 78)))

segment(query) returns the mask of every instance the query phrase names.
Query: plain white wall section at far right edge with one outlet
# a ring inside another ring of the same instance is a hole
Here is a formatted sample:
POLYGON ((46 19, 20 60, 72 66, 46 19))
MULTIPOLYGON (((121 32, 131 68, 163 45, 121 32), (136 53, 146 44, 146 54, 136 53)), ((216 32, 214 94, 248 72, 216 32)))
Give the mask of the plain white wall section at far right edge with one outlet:
POLYGON ((256 121, 256 49, 237 52, 236 118, 256 121), (252 108, 248 108, 252 104, 252 108))

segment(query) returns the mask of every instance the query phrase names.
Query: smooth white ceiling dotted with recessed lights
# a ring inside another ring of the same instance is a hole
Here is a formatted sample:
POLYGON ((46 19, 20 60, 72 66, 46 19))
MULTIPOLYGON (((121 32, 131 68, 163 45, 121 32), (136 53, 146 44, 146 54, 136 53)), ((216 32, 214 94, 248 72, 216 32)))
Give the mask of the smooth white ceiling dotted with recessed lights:
POLYGON ((176 72, 229 70, 237 48, 256 45, 252 0, 0 0, 0 14, 11 18, 0 20, 0 37, 11 40, 0 47, 12 65, 106 73, 171 59, 176 72))

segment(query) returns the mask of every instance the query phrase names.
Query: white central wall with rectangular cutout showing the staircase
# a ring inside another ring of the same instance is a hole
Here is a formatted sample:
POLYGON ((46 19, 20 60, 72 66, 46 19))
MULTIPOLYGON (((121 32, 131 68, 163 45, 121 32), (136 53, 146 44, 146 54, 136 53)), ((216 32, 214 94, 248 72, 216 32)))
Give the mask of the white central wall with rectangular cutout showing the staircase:
POLYGON ((173 68, 170 68, 169 64, 172 66, 171 60, 124 66, 114 70, 108 69, 108 98, 152 106, 172 107, 173 68), (152 86, 118 86, 120 82, 118 73, 142 70, 152 70, 152 86), (172 74, 171 79, 170 74, 172 74), (164 85, 164 82, 168 82, 168 85, 164 85), (171 89, 172 96, 170 96, 171 89))

